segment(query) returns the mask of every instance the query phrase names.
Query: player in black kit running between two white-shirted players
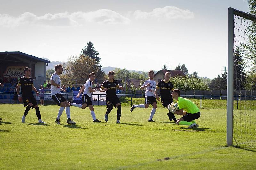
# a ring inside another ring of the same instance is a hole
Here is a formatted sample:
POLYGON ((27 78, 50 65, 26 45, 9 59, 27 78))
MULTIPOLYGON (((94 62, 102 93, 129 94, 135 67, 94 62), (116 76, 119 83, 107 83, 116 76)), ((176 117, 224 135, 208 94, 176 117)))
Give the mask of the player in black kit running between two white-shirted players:
POLYGON ((107 111, 105 114, 105 121, 108 122, 108 114, 111 112, 113 109, 113 105, 116 108, 117 107, 117 121, 116 123, 120 123, 120 117, 121 117, 121 103, 119 98, 116 95, 116 89, 124 90, 124 88, 118 85, 117 80, 114 80, 115 72, 114 71, 109 71, 108 73, 108 80, 104 81, 101 88, 100 92, 105 92, 107 93, 106 95, 106 104, 107 104, 107 111))

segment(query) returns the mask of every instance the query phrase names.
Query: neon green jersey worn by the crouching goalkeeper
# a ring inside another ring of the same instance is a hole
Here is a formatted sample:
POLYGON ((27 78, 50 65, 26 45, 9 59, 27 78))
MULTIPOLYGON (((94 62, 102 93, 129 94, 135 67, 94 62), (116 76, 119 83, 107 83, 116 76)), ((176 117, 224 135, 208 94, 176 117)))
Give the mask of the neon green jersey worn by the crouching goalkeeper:
POLYGON ((200 112, 196 104, 186 98, 178 97, 179 109, 183 109, 188 113, 197 113, 200 112))

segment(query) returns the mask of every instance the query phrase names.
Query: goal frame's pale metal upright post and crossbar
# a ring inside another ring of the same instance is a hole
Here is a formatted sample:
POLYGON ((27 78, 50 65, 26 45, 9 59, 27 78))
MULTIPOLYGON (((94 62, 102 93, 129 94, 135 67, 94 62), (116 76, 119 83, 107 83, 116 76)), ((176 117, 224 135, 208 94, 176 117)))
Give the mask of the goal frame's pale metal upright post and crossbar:
POLYGON ((251 21, 256 20, 254 15, 228 8, 227 146, 233 145, 234 15, 251 21))

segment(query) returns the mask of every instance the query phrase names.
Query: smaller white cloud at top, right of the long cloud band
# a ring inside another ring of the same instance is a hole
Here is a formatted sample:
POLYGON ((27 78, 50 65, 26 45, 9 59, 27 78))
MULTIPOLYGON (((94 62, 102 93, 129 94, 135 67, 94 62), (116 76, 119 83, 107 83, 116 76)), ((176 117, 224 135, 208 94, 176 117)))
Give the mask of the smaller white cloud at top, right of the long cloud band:
POLYGON ((143 12, 137 10, 133 13, 135 19, 191 19, 194 18, 193 12, 189 10, 183 10, 175 6, 165 6, 164 8, 155 8, 151 12, 143 12))

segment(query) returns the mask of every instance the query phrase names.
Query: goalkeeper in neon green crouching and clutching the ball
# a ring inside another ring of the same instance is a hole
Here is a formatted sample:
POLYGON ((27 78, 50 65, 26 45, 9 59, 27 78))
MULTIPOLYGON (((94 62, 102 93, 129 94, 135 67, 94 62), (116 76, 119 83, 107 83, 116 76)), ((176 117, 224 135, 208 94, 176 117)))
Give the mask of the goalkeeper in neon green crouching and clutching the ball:
POLYGON ((183 115, 180 119, 177 120, 176 124, 178 125, 188 125, 188 128, 198 127, 198 124, 194 121, 200 117, 200 110, 192 101, 180 97, 180 90, 174 89, 172 91, 172 98, 177 100, 179 105, 179 111, 173 109, 173 103, 168 105, 170 112, 177 115, 183 115))

